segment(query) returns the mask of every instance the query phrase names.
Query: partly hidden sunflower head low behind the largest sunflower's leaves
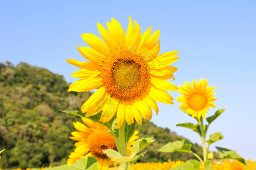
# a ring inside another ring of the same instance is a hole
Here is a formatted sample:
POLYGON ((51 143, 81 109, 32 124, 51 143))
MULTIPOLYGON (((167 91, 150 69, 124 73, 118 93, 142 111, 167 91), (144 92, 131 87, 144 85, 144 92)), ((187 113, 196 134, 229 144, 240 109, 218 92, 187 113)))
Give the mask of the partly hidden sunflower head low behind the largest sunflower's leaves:
MULTIPOLYGON (((97 123, 89 120, 88 118, 82 117, 84 124, 80 122, 73 123, 78 131, 73 131, 71 134, 73 137, 69 137, 75 141, 75 151, 71 152, 69 159, 67 160, 67 165, 76 163, 77 159, 84 158, 86 156, 95 156, 98 161, 99 169, 108 168, 115 166, 118 162, 113 162, 102 152, 102 150, 112 149, 117 151, 117 146, 113 136, 109 133, 108 129, 97 123)), ((135 131, 130 141, 127 144, 127 154, 130 155, 131 145, 134 144, 135 140, 139 137, 137 136, 138 131, 135 131)))

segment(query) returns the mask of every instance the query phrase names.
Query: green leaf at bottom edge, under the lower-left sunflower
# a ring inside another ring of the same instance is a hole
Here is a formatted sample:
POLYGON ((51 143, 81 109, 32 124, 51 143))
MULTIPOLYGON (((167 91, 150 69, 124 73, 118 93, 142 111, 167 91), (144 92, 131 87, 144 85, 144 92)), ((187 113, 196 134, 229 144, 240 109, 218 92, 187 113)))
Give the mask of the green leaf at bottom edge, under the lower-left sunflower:
POLYGON ((75 164, 72 164, 70 166, 68 165, 63 165, 60 167, 55 167, 55 168, 49 168, 49 170, 96 170, 98 169, 98 162, 97 160, 93 157, 86 157, 86 158, 81 158, 79 160, 76 160, 75 164))

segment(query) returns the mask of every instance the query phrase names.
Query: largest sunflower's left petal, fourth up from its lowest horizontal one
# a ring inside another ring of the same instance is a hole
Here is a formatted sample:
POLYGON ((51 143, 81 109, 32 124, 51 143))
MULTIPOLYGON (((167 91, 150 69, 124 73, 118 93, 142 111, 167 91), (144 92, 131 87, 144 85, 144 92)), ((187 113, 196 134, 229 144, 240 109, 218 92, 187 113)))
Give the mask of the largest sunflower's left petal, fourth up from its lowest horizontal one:
POLYGON ((77 50, 79 50, 82 57, 96 64, 103 64, 103 61, 106 59, 101 53, 87 46, 80 46, 77 50))

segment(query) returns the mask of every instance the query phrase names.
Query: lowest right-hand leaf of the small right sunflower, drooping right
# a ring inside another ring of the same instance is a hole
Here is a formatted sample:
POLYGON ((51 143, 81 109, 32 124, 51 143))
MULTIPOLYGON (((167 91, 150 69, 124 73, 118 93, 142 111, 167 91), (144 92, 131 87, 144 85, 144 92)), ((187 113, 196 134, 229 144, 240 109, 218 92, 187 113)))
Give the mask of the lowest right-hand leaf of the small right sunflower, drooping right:
POLYGON ((218 150, 218 154, 220 154, 220 159, 235 159, 239 162, 248 165, 245 159, 242 156, 238 155, 236 151, 228 150, 227 148, 216 147, 218 150))

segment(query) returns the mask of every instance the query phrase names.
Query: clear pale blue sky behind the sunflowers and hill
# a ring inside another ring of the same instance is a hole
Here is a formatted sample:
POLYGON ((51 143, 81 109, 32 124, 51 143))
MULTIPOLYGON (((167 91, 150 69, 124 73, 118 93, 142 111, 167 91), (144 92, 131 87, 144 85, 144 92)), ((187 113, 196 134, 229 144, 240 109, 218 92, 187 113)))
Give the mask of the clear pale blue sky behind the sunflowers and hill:
MULTIPOLYGON (((84 61, 76 49, 87 46, 80 35, 100 36, 97 22, 105 26, 110 18, 126 30, 128 16, 142 32, 150 25, 160 30, 160 53, 180 51, 172 83, 207 78, 216 87, 217 109, 226 111, 210 126, 209 134, 225 137, 214 146, 256 160, 256 1, 0 1, 0 62, 27 62, 74 82, 70 74, 78 68, 65 58, 84 61)), ((178 106, 159 103, 152 122, 200 143, 193 131, 175 126, 193 122, 178 106)))

